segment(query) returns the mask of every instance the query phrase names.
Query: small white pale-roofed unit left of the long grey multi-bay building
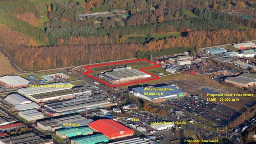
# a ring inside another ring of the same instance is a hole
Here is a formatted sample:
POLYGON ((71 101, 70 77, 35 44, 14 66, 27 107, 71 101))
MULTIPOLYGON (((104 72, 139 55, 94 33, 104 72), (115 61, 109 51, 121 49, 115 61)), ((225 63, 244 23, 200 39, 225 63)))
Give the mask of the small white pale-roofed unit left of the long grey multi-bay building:
POLYGON ((36 109, 19 111, 18 115, 27 121, 33 121, 44 118, 44 114, 36 109))

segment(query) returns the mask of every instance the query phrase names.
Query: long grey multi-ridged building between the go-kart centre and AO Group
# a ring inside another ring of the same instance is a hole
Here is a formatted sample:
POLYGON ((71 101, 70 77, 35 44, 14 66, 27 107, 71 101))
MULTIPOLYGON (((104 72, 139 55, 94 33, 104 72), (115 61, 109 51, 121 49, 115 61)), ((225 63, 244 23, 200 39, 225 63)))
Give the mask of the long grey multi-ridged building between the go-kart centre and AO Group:
MULTIPOLYGON (((60 115, 65 115, 84 111, 85 109, 104 108, 114 105, 116 105, 116 103, 110 102, 106 95, 97 94, 88 97, 52 102, 49 104, 46 103, 44 106, 58 112, 60 115)), ((51 112, 49 112, 49 115, 51 115, 51 112)))

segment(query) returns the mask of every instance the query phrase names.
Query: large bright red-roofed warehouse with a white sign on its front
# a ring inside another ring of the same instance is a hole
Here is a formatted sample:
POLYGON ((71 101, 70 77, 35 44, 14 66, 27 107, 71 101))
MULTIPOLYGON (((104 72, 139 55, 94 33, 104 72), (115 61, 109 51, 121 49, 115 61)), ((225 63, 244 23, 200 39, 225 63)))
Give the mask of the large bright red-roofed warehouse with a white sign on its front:
POLYGON ((100 119, 91 122, 89 127, 96 132, 101 132, 110 140, 132 136, 134 133, 133 130, 112 119, 100 119))

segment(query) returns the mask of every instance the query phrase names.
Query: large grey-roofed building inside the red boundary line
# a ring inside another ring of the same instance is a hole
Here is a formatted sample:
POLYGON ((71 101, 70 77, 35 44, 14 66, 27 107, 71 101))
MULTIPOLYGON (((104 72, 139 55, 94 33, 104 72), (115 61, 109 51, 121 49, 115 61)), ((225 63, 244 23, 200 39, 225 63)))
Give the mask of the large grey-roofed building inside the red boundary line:
POLYGON ((100 74, 99 76, 100 78, 107 79, 114 84, 131 81, 134 79, 150 77, 149 74, 146 74, 137 69, 132 69, 130 67, 114 68, 113 71, 105 72, 104 74, 100 74))

